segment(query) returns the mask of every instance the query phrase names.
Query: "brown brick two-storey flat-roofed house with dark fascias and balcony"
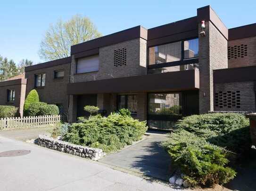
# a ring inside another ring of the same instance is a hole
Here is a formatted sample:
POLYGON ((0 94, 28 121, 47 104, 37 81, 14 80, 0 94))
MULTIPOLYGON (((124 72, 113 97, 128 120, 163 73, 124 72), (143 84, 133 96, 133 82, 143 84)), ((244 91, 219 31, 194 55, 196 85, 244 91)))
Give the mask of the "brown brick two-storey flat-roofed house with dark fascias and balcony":
POLYGON ((57 104, 71 121, 85 105, 128 108, 149 127, 182 116, 256 111, 256 23, 227 29, 210 6, 152 29, 136 26, 71 46, 71 55, 25 69, 26 94, 57 104))

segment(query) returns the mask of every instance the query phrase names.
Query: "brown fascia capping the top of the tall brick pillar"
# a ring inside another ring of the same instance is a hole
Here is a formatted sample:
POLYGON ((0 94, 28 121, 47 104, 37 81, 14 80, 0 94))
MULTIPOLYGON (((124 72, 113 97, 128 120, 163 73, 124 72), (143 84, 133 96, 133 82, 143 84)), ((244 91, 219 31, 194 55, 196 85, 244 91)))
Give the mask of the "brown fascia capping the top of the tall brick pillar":
POLYGON ((211 21, 215 25, 215 27, 222 33, 222 35, 226 39, 229 39, 229 32, 227 27, 209 5, 206 7, 198 8, 197 12, 198 23, 201 23, 201 21, 203 20, 211 21))

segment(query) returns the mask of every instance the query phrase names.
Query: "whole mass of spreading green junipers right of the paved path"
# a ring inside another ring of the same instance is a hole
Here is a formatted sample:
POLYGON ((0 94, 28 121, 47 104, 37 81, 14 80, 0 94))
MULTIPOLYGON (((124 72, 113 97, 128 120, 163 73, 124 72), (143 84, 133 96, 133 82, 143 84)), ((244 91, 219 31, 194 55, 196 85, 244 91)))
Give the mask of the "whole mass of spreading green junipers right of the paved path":
POLYGON ((248 126, 241 114, 191 115, 176 123, 163 145, 192 185, 223 184, 236 175, 231 164, 249 149, 248 126))

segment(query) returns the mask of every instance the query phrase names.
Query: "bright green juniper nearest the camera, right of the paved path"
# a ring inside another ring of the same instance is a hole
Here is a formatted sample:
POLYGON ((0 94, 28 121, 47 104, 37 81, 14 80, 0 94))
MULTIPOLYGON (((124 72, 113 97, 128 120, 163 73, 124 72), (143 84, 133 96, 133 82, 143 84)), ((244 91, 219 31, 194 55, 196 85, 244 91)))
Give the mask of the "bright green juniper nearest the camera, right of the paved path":
POLYGON ((219 146, 186 130, 172 133, 163 143, 174 163, 192 185, 223 184, 234 178, 236 172, 226 167, 228 152, 219 146))

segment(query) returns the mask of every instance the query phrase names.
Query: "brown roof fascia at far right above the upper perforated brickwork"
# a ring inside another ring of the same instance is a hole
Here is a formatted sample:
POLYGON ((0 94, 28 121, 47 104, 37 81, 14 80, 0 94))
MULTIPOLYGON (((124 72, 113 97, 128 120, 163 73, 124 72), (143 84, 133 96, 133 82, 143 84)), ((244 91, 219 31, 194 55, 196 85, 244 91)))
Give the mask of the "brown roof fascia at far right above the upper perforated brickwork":
POLYGON ((229 29, 229 40, 256 37, 256 23, 229 29))

